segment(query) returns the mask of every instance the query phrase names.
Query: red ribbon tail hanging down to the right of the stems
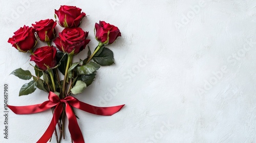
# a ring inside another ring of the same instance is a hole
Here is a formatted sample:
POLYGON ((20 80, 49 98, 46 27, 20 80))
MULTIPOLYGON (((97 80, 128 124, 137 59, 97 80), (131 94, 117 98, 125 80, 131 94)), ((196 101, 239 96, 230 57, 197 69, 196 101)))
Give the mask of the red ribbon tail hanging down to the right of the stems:
POLYGON ((66 102, 66 114, 69 120, 69 132, 75 143, 84 143, 82 132, 76 120, 76 116, 70 105, 66 102))

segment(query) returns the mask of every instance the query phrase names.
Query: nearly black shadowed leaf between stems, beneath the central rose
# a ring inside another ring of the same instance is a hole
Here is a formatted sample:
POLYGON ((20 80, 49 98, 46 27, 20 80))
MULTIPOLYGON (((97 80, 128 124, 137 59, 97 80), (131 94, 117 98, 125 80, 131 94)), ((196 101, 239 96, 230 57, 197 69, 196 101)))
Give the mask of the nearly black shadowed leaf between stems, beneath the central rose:
POLYGON ((57 51, 56 56, 57 56, 57 63, 60 62, 58 69, 59 69, 60 73, 65 75, 65 70, 66 70, 66 66, 67 66, 67 62, 68 62, 68 54, 64 54, 61 51, 57 51))

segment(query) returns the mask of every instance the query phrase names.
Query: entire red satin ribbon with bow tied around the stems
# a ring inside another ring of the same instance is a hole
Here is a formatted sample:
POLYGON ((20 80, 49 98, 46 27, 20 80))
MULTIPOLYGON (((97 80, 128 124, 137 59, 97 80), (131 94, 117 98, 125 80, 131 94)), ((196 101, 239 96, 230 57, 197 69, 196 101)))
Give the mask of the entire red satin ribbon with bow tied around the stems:
POLYGON ((47 128, 46 132, 44 133, 44 135, 42 135, 41 138, 37 141, 38 143, 45 143, 51 138, 55 130, 56 124, 58 123, 59 117, 63 111, 62 103, 66 104, 66 114, 69 120, 69 132, 75 143, 84 142, 84 140, 83 140, 82 132, 78 126, 76 116, 70 106, 73 106, 75 108, 81 109, 83 111, 86 111, 92 114, 97 114, 97 115, 113 115, 119 110, 121 110, 121 108, 124 106, 124 105, 119 105, 119 106, 112 106, 112 107, 97 107, 84 102, 80 102, 74 97, 66 97, 65 99, 59 99, 59 97, 53 92, 49 93, 48 99, 49 101, 45 101, 42 104, 35 104, 35 105, 29 105, 29 106, 8 105, 8 107, 16 114, 38 113, 56 106, 53 113, 52 121, 49 127, 47 128))

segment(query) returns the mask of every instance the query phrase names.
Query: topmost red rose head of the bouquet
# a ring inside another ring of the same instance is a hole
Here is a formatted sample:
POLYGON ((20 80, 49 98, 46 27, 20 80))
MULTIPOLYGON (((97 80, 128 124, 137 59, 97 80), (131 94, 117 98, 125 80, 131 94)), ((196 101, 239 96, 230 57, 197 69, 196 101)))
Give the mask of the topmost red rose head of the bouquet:
POLYGON ((65 28, 79 27, 81 20, 86 13, 74 6, 60 6, 59 10, 55 9, 55 14, 59 18, 59 25, 65 28))

